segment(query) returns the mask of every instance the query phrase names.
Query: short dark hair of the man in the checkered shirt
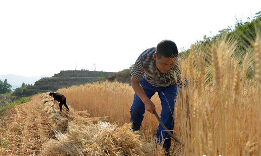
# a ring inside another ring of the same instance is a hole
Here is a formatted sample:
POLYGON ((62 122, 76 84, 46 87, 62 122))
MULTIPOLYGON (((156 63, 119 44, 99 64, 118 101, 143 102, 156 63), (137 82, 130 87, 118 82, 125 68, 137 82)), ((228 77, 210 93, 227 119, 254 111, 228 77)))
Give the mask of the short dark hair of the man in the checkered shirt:
POLYGON ((163 40, 160 43, 158 43, 158 45, 156 47, 156 53, 157 53, 158 59, 160 59, 161 56, 164 56, 167 58, 178 57, 177 46, 171 40, 163 40))

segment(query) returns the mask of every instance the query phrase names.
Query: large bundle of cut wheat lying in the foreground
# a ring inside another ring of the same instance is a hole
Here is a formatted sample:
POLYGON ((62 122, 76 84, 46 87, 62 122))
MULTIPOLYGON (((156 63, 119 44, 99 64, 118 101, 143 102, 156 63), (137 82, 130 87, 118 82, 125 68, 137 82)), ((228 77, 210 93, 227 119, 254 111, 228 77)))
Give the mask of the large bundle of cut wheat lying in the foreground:
POLYGON ((65 155, 153 155, 153 144, 140 138, 130 124, 118 127, 108 122, 90 125, 69 123, 68 133, 57 132, 46 143, 45 153, 65 155))

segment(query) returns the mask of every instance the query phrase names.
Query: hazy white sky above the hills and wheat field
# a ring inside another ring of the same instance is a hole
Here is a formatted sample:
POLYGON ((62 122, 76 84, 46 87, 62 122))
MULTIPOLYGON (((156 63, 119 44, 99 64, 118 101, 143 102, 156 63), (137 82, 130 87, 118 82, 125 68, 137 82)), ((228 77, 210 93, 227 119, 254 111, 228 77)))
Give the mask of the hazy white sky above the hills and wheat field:
POLYGON ((118 72, 164 39, 188 48, 261 1, 0 1, 0 75, 118 72))

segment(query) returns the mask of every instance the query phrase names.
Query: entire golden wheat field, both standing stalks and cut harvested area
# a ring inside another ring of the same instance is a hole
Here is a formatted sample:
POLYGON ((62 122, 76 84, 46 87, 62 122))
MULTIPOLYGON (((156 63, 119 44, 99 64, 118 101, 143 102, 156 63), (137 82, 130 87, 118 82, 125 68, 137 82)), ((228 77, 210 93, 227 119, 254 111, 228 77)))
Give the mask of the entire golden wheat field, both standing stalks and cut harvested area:
MULTIPOLYGON (((236 44, 221 39, 192 47, 180 60, 189 105, 178 95, 173 133, 182 145, 173 141, 172 155, 261 155, 261 40, 246 52, 238 52, 236 44), (254 78, 247 78, 250 72, 254 78)), ((58 92, 70 112, 51 108, 48 93, 6 110, 0 155, 164 155, 154 142, 154 115, 146 112, 141 131, 130 130, 134 92, 128 84, 97 82, 58 92)), ((157 94, 152 101, 160 112, 157 94)))

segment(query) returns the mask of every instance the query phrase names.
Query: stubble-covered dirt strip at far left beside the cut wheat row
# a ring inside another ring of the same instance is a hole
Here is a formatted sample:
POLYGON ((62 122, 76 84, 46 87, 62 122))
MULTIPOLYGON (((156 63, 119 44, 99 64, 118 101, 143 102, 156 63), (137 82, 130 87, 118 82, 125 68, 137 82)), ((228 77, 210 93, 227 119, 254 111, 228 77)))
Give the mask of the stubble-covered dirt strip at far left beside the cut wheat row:
POLYGON ((41 95, 4 110, 0 116, 0 155, 42 155, 42 145, 54 132, 41 109, 41 95))

